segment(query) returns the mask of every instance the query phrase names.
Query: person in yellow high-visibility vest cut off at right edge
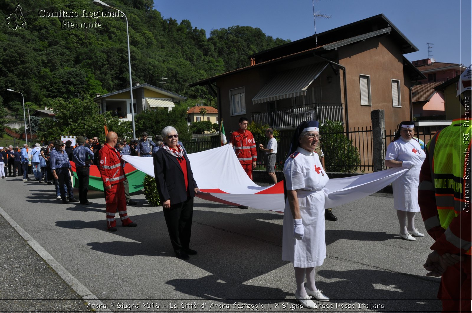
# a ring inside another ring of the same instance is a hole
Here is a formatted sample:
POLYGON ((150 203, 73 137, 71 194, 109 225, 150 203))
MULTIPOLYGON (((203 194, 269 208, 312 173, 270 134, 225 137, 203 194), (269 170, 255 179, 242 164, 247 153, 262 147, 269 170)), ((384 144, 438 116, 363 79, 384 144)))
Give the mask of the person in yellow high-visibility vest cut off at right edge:
POLYGON ((426 276, 442 276, 438 298, 443 312, 471 312, 471 77, 469 66, 457 92, 464 96, 465 116, 428 142, 418 188, 421 216, 435 240, 423 266, 426 276))

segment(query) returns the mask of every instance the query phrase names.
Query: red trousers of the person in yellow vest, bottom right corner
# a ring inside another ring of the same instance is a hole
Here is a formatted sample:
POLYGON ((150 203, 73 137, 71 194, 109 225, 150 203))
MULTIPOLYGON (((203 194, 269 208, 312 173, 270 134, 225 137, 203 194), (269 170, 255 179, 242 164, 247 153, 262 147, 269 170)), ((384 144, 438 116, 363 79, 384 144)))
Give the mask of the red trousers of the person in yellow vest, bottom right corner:
POLYGON ((438 292, 443 312, 471 312, 471 271, 471 256, 466 255, 463 262, 449 266, 444 272, 438 292))

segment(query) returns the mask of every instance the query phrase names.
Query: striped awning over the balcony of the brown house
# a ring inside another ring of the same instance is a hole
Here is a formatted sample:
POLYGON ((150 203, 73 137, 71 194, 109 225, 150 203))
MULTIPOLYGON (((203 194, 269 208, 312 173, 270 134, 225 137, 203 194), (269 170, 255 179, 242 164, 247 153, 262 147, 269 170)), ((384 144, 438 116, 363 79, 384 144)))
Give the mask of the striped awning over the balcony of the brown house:
POLYGON ((297 67, 274 76, 253 98, 253 104, 305 96, 308 86, 328 66, 320 62, 310 66, 297 67))

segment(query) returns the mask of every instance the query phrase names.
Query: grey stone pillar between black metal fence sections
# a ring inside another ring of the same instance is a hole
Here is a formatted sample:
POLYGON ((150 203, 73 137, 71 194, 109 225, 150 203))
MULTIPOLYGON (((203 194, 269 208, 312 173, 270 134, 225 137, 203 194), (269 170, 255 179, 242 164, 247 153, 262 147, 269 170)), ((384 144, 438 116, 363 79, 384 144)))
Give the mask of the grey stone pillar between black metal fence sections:
POLYGON ((372 154, 374 172, 385 170, 385 111, 372 110, 372 154))

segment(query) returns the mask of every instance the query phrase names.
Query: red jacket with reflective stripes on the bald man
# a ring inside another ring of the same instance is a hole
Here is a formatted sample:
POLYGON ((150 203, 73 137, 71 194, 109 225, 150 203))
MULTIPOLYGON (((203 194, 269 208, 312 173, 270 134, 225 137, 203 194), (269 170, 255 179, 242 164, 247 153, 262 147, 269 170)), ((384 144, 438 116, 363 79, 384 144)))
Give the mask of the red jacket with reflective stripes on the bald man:
POLYGON ((117 149, 110 147, 106 143, 98 152, 98 168, 101 174, 101 180, 105 186, 117 184, 126 179, 125 170, 121 161, 121 156, 117 149))

